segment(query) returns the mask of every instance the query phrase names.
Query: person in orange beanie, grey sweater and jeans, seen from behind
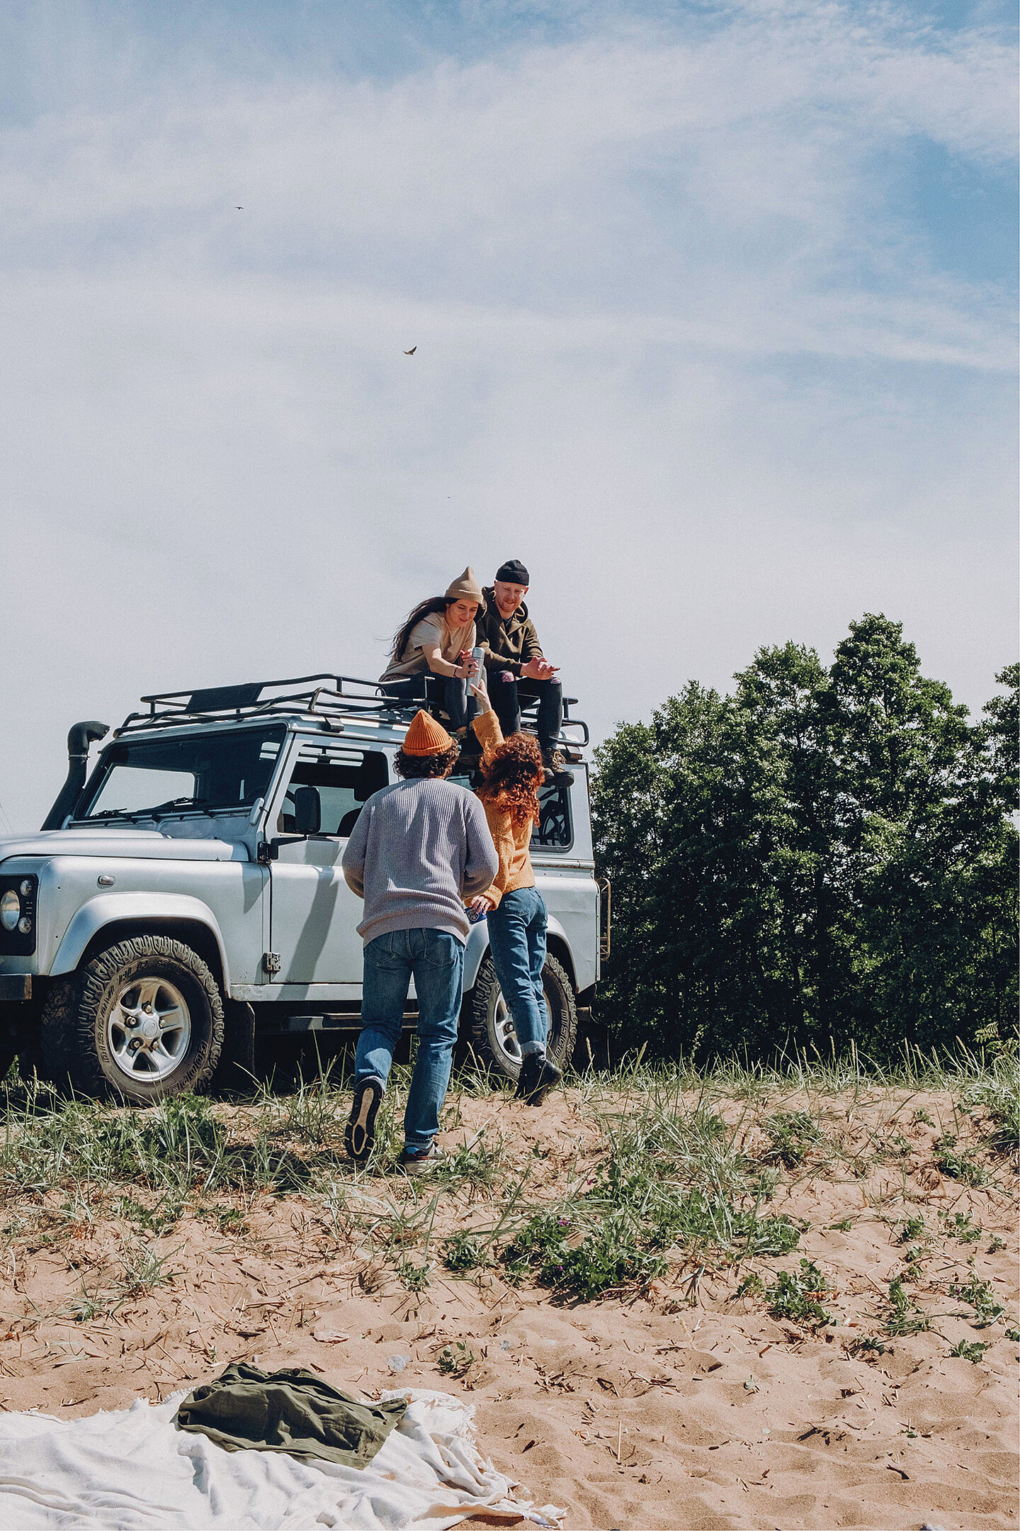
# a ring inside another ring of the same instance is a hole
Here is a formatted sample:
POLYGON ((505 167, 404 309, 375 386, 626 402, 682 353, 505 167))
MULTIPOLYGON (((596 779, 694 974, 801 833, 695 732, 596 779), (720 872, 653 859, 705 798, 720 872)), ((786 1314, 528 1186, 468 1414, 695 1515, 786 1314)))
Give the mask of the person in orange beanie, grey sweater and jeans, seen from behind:
POLYGON ((344 1133, 364 1162, 404 1023, 411 978, 417 994, 417 1058, 404 1112, 408 1174, 431 1168, 439 1112, 450 1084, 469 923, 465 899, 483 893, 499 857, 474 793, 445 778, 459 746, 427 712, 416 713, 396 756, 404 778, 365 802, 344 851, 347 885, 365 900, 361 1035, 355 1098, 344 1133))

